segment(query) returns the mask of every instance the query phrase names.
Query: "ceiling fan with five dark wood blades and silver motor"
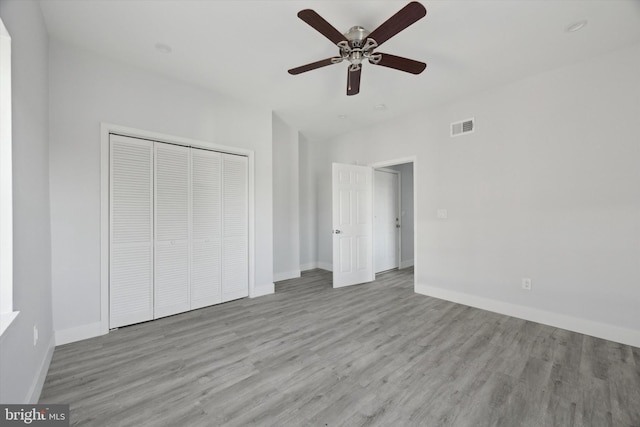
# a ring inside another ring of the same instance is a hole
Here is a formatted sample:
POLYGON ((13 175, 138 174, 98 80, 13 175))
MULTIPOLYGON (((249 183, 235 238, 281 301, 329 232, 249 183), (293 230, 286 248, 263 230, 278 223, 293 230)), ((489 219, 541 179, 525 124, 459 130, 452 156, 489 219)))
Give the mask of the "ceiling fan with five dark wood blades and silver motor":
POLYGON ((315 11, 311 9, 301 10, 298 12, 298 18, 331 40, 338 47, 340 56, 292 68, 289 70, 289 74, 296 75, 316 68, 326 67, 327 65, 338 64, 342 61, 349 61, 347 95, 356 95, 360 92, 360 74, 362 73, 362 61, 365 59, 373 65, 394 68, 411 74, 420 74, 427 66, 424 62, 388 53, 374 52, 374 50, 400 31, 422 19, 426 14, 427 10, 424 6, 417 1, 413 1, 371 32, 361 26, 355 26, 342 34, 315 11))

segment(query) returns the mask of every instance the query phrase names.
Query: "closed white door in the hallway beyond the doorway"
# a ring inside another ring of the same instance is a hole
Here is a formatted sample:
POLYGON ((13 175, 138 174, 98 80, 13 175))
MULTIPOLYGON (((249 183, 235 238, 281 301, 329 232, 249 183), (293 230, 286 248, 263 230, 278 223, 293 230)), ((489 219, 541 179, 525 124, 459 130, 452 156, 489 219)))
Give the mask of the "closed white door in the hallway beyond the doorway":
POLYGON ((399 179, 396 172, 374 172, 375 271, 400 266, 399 179))

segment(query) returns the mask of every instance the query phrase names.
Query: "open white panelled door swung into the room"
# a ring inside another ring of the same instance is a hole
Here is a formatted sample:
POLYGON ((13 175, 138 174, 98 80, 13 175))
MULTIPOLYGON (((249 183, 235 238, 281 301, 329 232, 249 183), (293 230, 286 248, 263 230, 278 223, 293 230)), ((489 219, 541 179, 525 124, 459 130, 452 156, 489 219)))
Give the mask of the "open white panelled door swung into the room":
POLYGON ((333 164, 333 287, 371 282, 373 169, 333 164))

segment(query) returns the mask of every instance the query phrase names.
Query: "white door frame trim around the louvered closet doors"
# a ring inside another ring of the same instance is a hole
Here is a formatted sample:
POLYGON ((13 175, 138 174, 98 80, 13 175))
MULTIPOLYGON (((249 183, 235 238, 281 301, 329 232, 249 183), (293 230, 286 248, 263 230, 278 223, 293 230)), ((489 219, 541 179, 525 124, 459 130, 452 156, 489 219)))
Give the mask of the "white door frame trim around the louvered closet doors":
POLYGON ((247 157, 249 163, 249 297, 259 296, 255 290, 255 152, 245 148, 103 122, 100 123, 100 334, 109 333, 109 134, 112 133, 247 157))

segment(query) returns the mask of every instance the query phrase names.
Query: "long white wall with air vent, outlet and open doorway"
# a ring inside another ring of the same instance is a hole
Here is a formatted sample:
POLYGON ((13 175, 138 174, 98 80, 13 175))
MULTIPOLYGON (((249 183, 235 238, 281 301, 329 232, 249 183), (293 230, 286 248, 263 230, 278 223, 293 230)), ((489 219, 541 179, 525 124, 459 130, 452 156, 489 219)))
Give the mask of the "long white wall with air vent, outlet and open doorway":
POLYGON ((314 144, 318 205, 331 161, 416 156, 416 291, 640 346, 639 75, 635 45, 314 144))

